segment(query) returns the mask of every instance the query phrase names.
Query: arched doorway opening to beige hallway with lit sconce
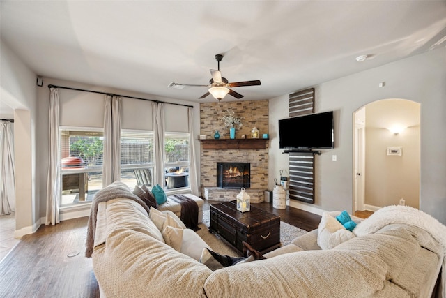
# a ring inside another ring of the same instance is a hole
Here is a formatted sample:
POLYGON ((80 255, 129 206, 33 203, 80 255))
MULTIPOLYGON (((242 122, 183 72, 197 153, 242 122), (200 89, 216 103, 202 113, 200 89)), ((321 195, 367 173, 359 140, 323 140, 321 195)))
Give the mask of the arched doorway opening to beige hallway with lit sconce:
POLYGON ((353 113, 353 124, 353 211, 401 203, 418 209, 420 103, 376 100, 353 113))

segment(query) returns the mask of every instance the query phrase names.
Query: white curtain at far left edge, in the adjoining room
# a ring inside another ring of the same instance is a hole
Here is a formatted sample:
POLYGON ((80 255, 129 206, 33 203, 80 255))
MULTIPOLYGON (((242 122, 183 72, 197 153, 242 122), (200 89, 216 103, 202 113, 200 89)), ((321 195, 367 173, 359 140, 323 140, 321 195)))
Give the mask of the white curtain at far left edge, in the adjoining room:
POLYGON ((0 122, 0 215, 15 212, 14 140, 10 122, 0 122))

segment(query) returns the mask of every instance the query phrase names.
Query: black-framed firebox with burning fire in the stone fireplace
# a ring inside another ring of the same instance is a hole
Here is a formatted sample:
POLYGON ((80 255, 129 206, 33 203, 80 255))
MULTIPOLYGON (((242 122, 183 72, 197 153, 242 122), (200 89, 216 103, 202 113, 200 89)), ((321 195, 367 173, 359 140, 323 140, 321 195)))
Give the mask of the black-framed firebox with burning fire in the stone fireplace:
POLYGON ((250 163, 217 163, 217 187, 251 187, 250 163))

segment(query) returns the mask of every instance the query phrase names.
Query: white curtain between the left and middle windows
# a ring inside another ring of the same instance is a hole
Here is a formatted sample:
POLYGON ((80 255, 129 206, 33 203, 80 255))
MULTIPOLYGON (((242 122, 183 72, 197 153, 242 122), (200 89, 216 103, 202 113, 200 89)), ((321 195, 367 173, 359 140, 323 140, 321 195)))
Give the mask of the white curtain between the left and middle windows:
POLYGON ((121 105, 119 96, 104 98, 104 163, 102 187, 121 180, 121 105))

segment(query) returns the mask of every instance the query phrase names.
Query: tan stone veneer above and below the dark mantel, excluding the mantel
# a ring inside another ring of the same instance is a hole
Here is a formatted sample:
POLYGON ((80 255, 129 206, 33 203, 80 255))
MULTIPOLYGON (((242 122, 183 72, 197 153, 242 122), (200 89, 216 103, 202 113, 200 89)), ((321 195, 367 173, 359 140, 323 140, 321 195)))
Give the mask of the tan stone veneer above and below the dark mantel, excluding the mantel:
MULTIPOLYGON (((236 128, 237 139, 240 139, 242 135, 251 138, 251 130, 254 127, 259 129, 260 137, 263 133, 268 133, 268 100, 235 102, 222 100, 222 103, 200 104, 200 135, 206 135, 206 139, 213 139, 215 130, 218 130, 220 138, 229 139, 229 128, 224 128, 221 121, 228 109, 232 109, 238 116, 243 117, 243 127, 236 128)), ((233 161, 251 163, 251 188, 268 189, 268 147, 267 149, 243 150, 203 150, 200 147, 200 159, 202 188, 217 186, 217 162, 233 161)), ((249 189, 247 193, 249 194, 249 189)), ((228 198, 228 200, 234 199, 228 198)))

